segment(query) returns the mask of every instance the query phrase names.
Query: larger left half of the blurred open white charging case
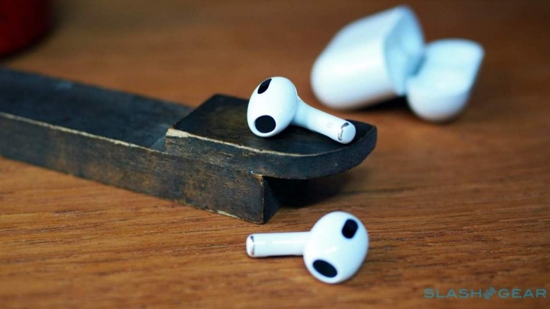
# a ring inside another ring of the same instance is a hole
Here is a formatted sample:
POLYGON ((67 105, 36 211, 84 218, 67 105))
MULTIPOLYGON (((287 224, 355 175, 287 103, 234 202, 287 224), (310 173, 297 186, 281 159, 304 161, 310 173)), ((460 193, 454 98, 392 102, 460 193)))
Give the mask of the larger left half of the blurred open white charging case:
POLYGON ((422 30, 408 6, 361 18, 341 29, 315 61, 313 92, 335 109, 403 95, 423 48, 422 30))

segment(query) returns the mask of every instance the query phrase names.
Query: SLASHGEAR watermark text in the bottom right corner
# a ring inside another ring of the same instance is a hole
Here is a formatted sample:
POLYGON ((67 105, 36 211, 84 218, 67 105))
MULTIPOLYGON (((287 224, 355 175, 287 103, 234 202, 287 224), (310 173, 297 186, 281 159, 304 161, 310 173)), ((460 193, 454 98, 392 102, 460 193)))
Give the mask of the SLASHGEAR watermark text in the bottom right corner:
POLYGON ((424 289, 424 298, 456 298, 456 299, 471 299, 471 298, 485 298, 490 301, 491 298, 511 298, 511 299, 523 299, 523 298, 546 298, 546 289, 508 289, 501 288, 496 289, 489 287, 489 289, 424 289))

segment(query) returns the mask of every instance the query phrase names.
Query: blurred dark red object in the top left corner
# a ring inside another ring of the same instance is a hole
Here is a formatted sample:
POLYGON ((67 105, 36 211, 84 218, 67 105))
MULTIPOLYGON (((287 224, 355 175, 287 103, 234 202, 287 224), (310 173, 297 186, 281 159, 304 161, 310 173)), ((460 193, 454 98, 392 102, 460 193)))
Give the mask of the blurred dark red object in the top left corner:
POLYGON ((51 1, 0 0, 0 56, 38 40, 49 29, 51 1))

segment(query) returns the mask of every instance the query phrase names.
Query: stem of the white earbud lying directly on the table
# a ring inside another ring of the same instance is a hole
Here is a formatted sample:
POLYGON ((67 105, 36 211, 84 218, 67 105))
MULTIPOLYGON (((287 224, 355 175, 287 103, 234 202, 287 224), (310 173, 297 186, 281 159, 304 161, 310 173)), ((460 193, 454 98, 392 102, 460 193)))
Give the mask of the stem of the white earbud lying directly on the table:
POLYGON ((252 234, 246 240, 250 257, 303 255, 310 232, 252 234))

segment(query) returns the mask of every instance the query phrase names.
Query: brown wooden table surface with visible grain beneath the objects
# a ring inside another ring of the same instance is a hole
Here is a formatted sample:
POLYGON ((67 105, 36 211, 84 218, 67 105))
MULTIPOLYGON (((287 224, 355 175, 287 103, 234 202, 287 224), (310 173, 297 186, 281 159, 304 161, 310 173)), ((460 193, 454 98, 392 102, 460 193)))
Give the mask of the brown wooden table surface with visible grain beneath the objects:
MULTIPOLYGON (((193 107, 284 75, 328 110, 309 85, 315 57, 346 23, 397 4, 57 1, 51 34, 0 65, 193 107)), ((550 307, 550 295, 425 297, 550 288, 550 5, 409 4, 427 41, 485 48, 459 119, 425 123, 403 101, 334 112, 376 125, 377 148, 264 225, 0 158, 0 308, 550 307), (305 231, 334 210, 371 240, 346 283, 317 281, 301 257, 247 257, 248 234, 305 231)))

